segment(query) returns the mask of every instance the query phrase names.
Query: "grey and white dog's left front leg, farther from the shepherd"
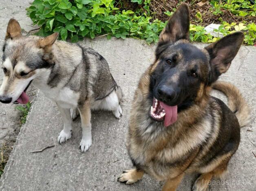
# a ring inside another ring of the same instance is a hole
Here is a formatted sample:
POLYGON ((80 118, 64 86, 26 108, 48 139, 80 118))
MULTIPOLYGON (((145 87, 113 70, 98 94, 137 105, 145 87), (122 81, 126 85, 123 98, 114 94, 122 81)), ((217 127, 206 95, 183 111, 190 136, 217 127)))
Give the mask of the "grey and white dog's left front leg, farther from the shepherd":
POLYGON ((64 109, 60 106, 60 104, 56 103, 59 110, 60 114, 62 115, 62 120, 63 120, 63 129, 60 132, 60 135, 58 137, 58 142, 63 143, 66 140, 71 138, 71 133, 72 133, 72 119, 70 116, 70 111, 69 109, 64 109))

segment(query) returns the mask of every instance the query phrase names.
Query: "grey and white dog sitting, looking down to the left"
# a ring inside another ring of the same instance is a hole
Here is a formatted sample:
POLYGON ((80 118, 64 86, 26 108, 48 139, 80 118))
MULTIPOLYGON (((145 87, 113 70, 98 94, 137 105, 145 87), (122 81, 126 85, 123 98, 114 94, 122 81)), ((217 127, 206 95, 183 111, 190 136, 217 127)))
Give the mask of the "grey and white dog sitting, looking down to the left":
POLYGON ((2 103, 29 102, 25 91, 30 83, 56 102, 64 128, 58 142, 71 138, 71 123, 78 114, 82 123, 82 152, 92 144, 91 109, 122 114, 121 88, 110 73, 107 61, 95 50, 48 37, 21 34, 20 24, 11 19, 3 46, 4 78, 0 87, 2 103))

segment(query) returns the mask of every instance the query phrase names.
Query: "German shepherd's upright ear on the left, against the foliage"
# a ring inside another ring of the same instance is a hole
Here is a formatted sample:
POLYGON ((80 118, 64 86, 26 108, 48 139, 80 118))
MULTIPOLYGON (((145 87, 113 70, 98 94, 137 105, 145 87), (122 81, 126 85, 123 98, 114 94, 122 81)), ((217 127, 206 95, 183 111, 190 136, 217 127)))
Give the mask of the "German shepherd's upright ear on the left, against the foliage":
POLYGON ((179 39, 189 40, 189 26, 189 8, 186 3, 182 3, 162 30, 159 36, 159 43, 174 43, 179 39))

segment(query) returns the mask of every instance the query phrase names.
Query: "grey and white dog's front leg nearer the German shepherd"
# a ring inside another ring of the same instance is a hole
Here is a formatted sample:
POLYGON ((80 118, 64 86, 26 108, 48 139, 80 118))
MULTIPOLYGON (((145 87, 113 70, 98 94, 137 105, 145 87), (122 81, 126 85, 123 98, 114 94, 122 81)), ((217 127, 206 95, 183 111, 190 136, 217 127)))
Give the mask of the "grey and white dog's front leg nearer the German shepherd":
POLYGON ((92 133, 90 124, 90 103, 86 101, 82 107, 78 108, 82 124, 82 140, 80 142, 80 150, 86 152, 92 145, 92 133))

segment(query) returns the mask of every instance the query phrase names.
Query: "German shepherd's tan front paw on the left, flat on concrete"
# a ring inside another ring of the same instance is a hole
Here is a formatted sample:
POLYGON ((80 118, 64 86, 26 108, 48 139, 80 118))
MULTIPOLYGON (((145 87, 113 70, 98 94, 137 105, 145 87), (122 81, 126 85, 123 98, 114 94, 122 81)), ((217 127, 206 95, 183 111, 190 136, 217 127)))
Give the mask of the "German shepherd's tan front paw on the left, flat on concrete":
POLYGON ((123 171, 123 174, 117 179, 117 181, 125 184, 133 184, 140 180, 143 176, 143 172, 136 169, 123 171))

